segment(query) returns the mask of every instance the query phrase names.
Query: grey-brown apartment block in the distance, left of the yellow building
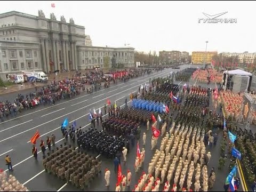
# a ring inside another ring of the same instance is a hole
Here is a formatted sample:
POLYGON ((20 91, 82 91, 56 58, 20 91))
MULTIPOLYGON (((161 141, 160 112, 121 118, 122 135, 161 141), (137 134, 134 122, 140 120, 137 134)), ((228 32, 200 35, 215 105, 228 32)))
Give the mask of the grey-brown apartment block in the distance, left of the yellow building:
POLYGON ((180 51, 159 51, 159 58, 162 63, 181 62, 180 51))

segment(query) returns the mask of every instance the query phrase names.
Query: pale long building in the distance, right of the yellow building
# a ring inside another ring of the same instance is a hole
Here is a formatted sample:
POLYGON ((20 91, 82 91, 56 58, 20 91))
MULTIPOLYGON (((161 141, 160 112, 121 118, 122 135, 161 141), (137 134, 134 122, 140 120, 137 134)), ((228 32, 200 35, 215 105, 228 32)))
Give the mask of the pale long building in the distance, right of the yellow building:
POLYGON ((256 53, 229 53, 222 52, 221 53, 225 57, 237 57, 239 63, 254 63, 256 59, 256 53))

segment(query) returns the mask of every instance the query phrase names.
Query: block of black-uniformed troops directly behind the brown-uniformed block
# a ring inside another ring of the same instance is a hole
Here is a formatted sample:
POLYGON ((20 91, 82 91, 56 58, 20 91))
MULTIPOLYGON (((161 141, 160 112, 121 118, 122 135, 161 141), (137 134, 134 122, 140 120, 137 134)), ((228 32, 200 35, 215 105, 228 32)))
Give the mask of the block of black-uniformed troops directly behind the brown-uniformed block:
POLYGON ((125 146, 123 138, 109 135, 106 132, 95 129, 86 130, 81 137, 77 139, 79 145, 84 150, 91 150, 106 157, 114 157, 118 151, 121 151, 125 146))

